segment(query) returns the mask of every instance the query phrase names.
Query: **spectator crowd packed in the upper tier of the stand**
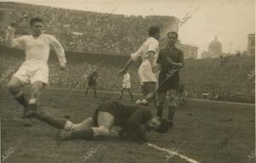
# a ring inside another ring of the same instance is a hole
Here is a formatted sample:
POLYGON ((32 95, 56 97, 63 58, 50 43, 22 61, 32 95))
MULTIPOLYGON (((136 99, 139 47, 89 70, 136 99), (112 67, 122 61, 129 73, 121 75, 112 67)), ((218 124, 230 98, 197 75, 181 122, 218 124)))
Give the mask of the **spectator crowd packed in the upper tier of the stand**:
POLYGON ((1 3, 0 42, 3 43, 4 31, 10 21, 24 14, 27 14, 27 19, 17 30, 20 35, 28 33, 27 25, 30 18, 40 16, 44 20, 45 32, 54 35, 66 50, 112 54, 134 52, 148 36, 150 25, 159 25, 163 28, 172 19, 170 16, 127 16, 35 7, 22 3, 1 3))

